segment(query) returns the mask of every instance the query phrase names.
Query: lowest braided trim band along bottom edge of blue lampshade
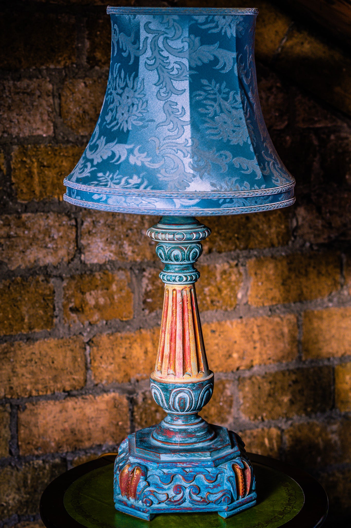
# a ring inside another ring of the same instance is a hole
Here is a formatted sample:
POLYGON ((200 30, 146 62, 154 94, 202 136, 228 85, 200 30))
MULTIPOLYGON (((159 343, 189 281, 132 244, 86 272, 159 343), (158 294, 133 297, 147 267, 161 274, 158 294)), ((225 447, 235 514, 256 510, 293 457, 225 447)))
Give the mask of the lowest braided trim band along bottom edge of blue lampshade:
POLYGON ((78 205, 85 209, 96 209, 99 211, 108 211, 116 213, 129 213, 129 214, 149 214, 149 215, 172 215, 172 216, 225 216, 234 214, 247 214, 257 213, 260 211, 272 211, 275 209, 283 209, 289 205, 295 203, 295 196, 288 200, 282 200, 279 202, 262 204, 262 205, 250 205, 243 207, 234 208, 214 208, 214 209, 196 209, 196 208, 184 208, 184 209, 148 209, 142 207, 122 207, 121 205, 106 205, 102 203, 85 202, 83 200, 77 200, 71 196, 64 194, 63 199, 65 202, 73 205, 78 205))

